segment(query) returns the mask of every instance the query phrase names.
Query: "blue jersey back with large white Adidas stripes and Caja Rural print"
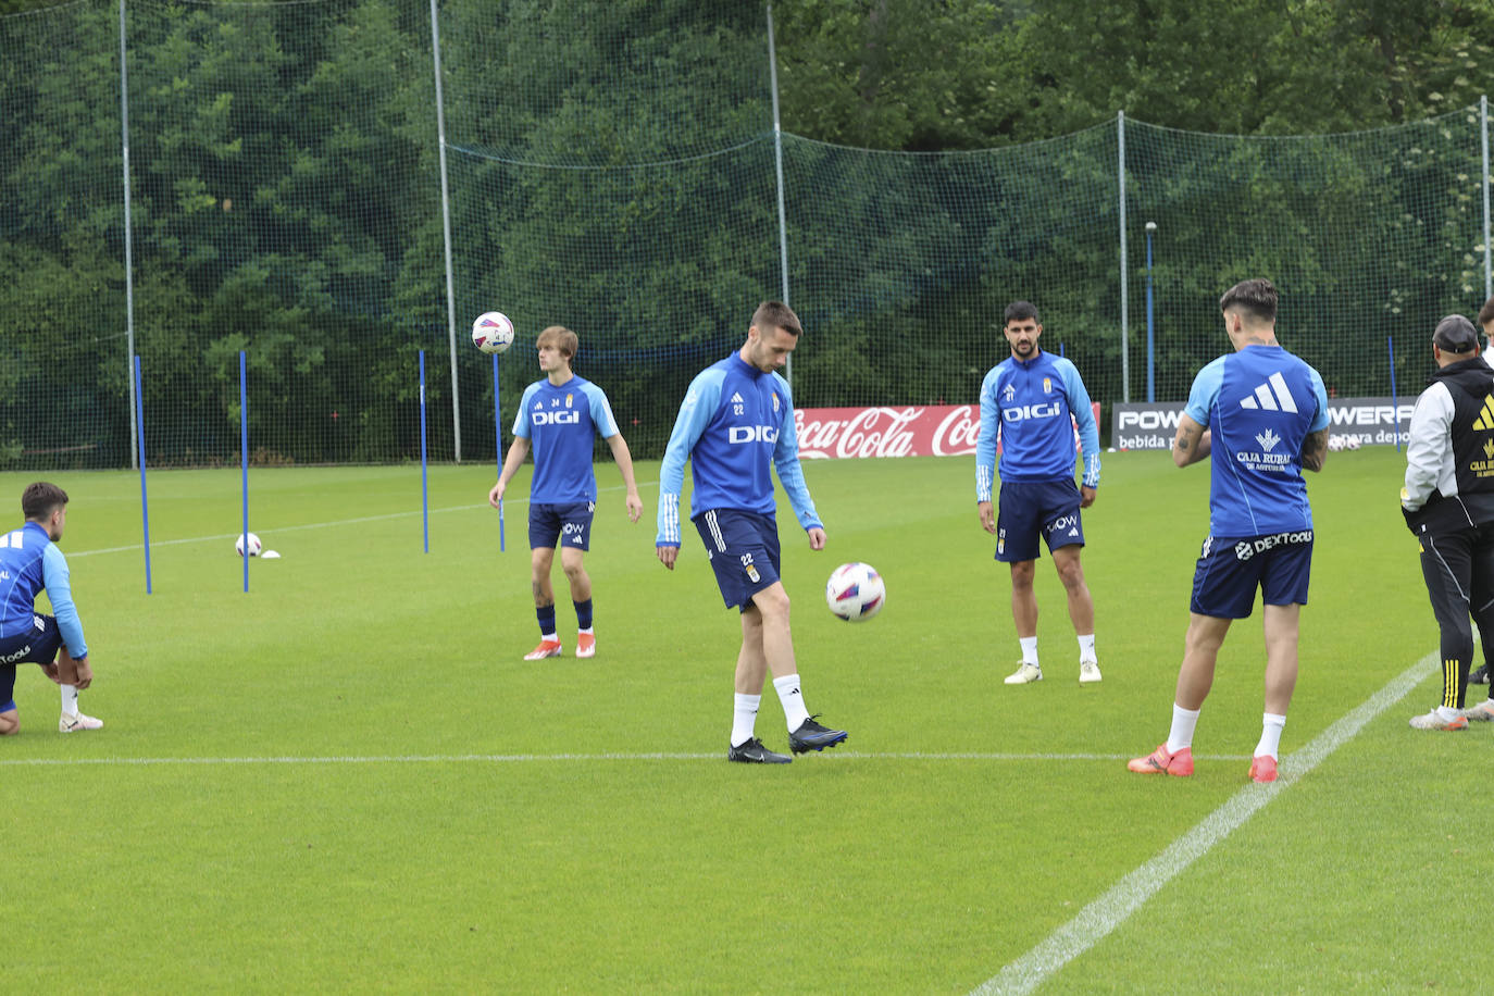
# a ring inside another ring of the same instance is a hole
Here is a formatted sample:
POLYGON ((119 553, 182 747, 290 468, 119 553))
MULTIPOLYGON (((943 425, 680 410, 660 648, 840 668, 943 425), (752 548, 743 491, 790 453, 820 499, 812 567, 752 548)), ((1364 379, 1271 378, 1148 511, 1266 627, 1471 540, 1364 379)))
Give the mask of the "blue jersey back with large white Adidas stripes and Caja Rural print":
POLYGON ((1312 529, 1303 441, 1328 427, 1316 370, 1282 346, 1249 345, 1200 370, 1183 411, 1210 432, 1210 535, 1312 529))

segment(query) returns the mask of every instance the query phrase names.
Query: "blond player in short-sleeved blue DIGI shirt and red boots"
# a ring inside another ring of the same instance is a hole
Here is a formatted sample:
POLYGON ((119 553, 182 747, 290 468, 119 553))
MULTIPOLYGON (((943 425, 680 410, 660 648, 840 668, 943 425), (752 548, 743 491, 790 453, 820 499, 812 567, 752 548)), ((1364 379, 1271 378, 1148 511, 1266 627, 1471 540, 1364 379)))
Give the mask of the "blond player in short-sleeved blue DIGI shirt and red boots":
POLYGON ((592 629, 592 578, 586 573, 586 551, 592 545, 592 514, 596 511, 596 473, 592 469, 592 441, 602 436, 613 449, 613 460, 627 488, 627 518, 638 521, 644 503, 633 481, 633 457, 617 430, 613 408, 602 388, 571 372, 580 340, 569 329, 550 326, 539 333, 535 348, 544 379, 524 388, 514 417, 514 442, 503 460, 498 484, 487 503, 498 508, 508 482, 535 451, 535 476, 529 484, 529 584, 535 593, 539 620, 539 645, 524 660, 559 657, 565 650, 556 633, 556 596, 550 584, 556 548, 560 569, 571 584, 575 606, 575 656, 596 654, 592 629))

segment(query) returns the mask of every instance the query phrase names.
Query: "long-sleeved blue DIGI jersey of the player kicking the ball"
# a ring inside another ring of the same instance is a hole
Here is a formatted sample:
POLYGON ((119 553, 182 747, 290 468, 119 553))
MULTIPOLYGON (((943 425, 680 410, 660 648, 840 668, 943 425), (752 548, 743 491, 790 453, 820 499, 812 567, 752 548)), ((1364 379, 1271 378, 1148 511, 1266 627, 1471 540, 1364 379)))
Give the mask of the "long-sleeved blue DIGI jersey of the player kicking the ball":
POLYGON ((701 370, 680 405, 659 467, 657 547, 680 545, 684 461, 692 466, 690 515, 731 508, 772 515, 772 469, 804 529, 823 527, 799 466, 789 382, 734 352, 701 370))

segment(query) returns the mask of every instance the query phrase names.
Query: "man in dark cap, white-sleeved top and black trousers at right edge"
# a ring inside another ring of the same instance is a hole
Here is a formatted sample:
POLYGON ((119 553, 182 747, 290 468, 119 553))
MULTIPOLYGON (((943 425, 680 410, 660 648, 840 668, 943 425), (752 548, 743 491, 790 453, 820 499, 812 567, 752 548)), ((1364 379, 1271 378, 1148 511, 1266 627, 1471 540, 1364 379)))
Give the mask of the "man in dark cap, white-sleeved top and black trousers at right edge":
MULTIPOLYGON (((1472 614, 1494 632, 1494 372, 1479 358, 1479 337, 1463 315, 1448 315, 1431 336, 1437 364, 1410 417, 1401 512, 1421 547, 1421 573, 1442 645, 1442 702, 1412 717, 1418 730, 1464 730, 1494 720, 1494 699, 1464 709, 1473 663, 1472 614)), ((1485 653, 1488 648, 1485 648, 1485 653)))

